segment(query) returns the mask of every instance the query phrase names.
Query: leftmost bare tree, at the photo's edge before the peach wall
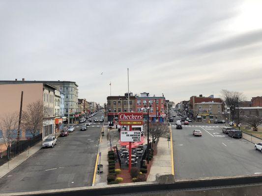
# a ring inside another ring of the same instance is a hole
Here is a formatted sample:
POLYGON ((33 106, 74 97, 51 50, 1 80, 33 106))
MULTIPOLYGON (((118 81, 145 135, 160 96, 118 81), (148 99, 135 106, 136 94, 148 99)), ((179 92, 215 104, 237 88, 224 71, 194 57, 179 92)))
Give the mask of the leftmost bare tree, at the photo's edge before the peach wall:
POLYGON ((15 143, 17 139, 17 129, 18 129, 18 113, 6 114, 0 119, 0 129, 2 130, 2 137, 5 146, 8 149, 8 154, 10 152, 10 147, 15 143))

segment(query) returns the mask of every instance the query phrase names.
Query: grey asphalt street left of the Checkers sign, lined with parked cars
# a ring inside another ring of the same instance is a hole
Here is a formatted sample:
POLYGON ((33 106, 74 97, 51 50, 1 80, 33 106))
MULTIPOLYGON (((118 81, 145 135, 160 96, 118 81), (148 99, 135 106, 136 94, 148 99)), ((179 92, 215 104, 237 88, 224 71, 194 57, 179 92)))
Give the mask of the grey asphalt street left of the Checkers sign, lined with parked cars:
POLYGON ((75 125, 54 148, 40 149, 0 178, 0 193, 91 186, 102 124, 92 122, 87 131, 75 125))

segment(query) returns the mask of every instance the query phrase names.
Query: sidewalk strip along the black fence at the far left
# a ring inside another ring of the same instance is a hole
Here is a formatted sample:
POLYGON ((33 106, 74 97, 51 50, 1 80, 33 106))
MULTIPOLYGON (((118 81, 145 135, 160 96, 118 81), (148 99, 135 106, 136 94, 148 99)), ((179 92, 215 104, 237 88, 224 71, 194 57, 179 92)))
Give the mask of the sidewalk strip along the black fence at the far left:
POLYGON ((21 154, 17 155, 15 158, 11 159, 2 166, 0 166, 0 178, 3 177, 5 174, 10 172, 11 170, 15 169, 21 163, 26 161, 31 155, 37 152, 42 147, 42 141, 36 143, 33 147, 30 147, 29 150, 22 152, 21 154), (8 167, 9 165, 9 167, 8 167))

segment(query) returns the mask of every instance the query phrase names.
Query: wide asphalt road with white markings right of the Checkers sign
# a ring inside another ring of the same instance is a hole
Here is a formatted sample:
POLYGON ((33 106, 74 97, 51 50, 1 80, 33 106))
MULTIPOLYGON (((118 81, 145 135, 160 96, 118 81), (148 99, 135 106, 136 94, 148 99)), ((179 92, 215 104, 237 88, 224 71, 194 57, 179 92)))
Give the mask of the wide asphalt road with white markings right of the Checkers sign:
POLYGON ((235 176, 262 173, 262 153, 244 139, 222 133, 221 124, 172 125, 175 178, 235 176), (194 137, 194 129, 202 137, 194 137))

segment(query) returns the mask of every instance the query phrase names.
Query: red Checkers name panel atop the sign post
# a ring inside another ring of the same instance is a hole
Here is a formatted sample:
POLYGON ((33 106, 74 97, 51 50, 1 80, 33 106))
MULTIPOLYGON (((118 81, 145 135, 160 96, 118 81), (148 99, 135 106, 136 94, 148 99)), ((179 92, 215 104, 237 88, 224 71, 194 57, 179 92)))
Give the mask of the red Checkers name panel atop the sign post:
POLYGON ((141 112, 120 112, 118 114, 119 125, 142 125, 143 113, 141 112))

